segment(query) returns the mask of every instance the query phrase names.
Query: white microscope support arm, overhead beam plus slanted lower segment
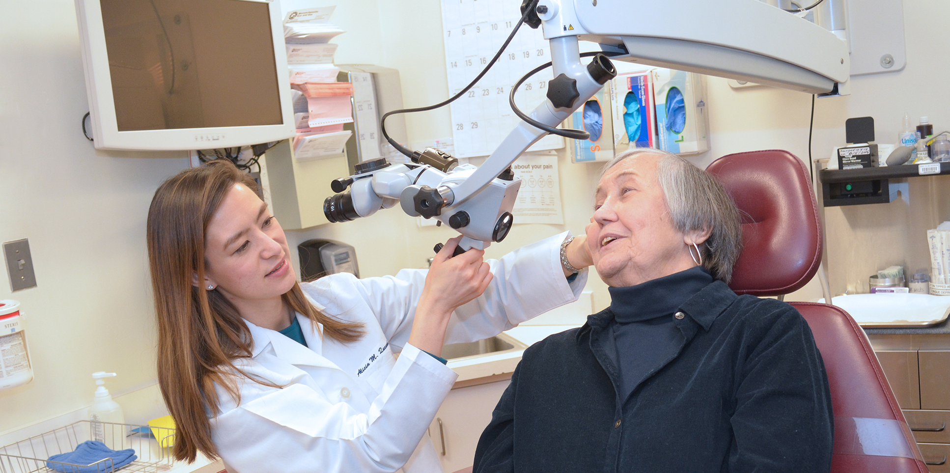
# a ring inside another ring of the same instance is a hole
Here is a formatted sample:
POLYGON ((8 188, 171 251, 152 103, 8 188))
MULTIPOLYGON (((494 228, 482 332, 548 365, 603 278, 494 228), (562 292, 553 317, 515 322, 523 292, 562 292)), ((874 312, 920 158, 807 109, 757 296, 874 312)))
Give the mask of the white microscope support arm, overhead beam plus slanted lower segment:
MULTIPOLYGON (((758 0, 540 0, 552 67, 579 81, 580 101, 545 101, 531 118, 551 126, 599 90, 580 64, 578 40, 623 52, 613 61, 670 67, 806 93, 846 94, 847 44, 832 32, 758 0), (586 82, 584 82, 586 81, 586 82), (582 84, 589 86, 582 87, 582 84), (583 90, 581 90, 583 88, 583 90), (588 93, 589 92, 589 93, 588 93)), ((468 180, 459 205, 485 188, 547 133, 521 122, 468 180)))

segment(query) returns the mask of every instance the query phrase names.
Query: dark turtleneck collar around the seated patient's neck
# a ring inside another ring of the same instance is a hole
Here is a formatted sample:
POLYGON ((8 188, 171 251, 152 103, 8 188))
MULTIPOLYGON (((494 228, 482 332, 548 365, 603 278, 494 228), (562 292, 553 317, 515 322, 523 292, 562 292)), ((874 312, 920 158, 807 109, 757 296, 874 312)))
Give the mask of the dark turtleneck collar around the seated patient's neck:
POLYGON ((695 266, 636 286, 607 288, 610 312, 620 324, 651 320, 676 312, 684 302, 712 283, 712 275, 695 266))

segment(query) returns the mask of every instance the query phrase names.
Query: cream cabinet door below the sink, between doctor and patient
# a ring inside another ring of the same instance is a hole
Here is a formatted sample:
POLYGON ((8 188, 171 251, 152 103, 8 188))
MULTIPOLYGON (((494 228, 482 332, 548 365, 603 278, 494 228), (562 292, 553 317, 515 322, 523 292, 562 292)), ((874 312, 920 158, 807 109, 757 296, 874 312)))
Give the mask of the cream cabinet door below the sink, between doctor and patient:
POLYGON ((443 471, 452 473, 472 465, 478 439, 509 383, 510 380, 496 381, 448 392, 428 429, 443 471))

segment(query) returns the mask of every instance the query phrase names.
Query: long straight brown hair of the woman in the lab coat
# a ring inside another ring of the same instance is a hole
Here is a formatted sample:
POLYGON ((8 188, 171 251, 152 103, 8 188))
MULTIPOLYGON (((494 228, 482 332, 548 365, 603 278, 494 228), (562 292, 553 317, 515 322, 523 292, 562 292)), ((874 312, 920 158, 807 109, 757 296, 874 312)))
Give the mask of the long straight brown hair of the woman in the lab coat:
MULTIPOLYGON (((148 209, 146 239, 159 329, 159 386, 178 427, 172 454, 189 463, 197 451, 218 457, 208 418, 218 414, 215 385, 227 389, 239 403, 235 373, 243 373, 232 360, 250 357, 253 348, 251 331, 237 308, 218 291, 192 284, 204 280, 208 222, 238 182, 260 195, 257 182, 234 164, 211 161, 165 180, 148 209)), ((333 339, 350 342, 363 335, 362 324, 344 323, 319 312, 296 283, 282 298, 296 312, 322 324, 323 333, 333 339)))

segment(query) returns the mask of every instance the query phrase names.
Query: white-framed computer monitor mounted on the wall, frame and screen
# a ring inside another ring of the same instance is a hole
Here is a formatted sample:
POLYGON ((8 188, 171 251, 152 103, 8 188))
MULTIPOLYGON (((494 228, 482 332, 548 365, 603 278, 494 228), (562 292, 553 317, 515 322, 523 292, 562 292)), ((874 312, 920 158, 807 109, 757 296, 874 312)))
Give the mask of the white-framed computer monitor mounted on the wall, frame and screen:
POLYGON ((276 0, 76 0, 95 146, 234 147, 295 133, 276 0))

